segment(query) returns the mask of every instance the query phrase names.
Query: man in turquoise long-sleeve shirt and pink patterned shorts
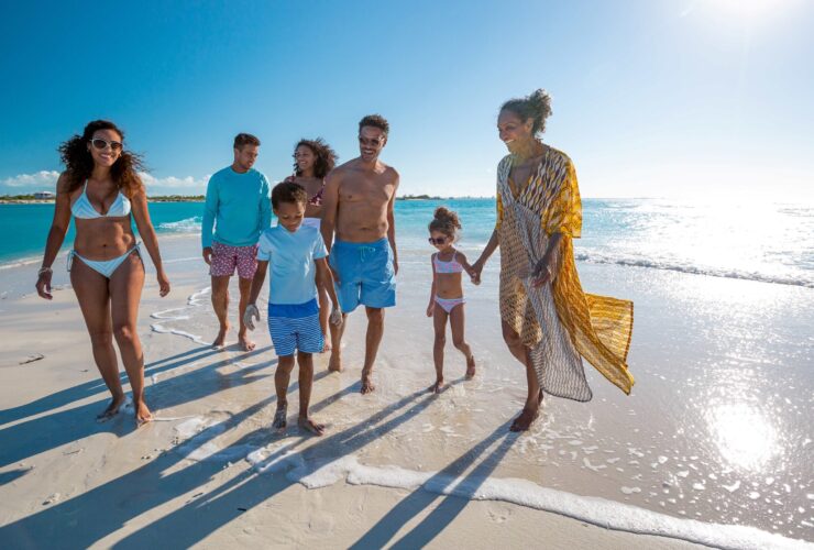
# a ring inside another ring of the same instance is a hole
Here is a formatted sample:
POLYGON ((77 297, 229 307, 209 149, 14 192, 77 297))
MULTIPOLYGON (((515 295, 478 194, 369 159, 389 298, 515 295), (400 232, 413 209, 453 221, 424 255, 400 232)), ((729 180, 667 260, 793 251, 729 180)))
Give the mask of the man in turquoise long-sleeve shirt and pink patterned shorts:
POLYGON ((238 343, 243 351, 254 349, 249 340, 243 314, 249 304, 252 278, 257 268, 257 239, 272 223, 268 179, 252 168, 257 160, 260 140, 241 133, 234 138, 231 166, 212 174, 207 186, 201 244, 204 261, 212 277, 212 307, 220 330, 212 346, 226 345, 229 332, 229 279, 238 271, 240 330, 238 343))

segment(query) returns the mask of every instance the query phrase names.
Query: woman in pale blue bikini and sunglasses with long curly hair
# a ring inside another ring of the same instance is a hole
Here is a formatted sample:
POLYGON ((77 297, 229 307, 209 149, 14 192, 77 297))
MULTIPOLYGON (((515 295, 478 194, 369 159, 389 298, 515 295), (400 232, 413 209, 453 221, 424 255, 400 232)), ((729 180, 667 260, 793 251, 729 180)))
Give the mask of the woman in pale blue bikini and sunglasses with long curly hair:
POLYGON ((68 256, 70 284, 90 333, 96 366, 112 394, 100 420, 124 404, 113 337, 133 391, 138 426, 152 415, 144 403, 144 358, 136 332, 144 264, 133 234, 135 220, 144 246, 155 265, 161 296, 169 293, 158 253, 158 241, 147 212, 144 185, 138 175, 139 157, 123 150, 123 133, 112 122, 97 120, 59 147, 66 170, 56 183, 54 221, 45 243, 37 294, 52 299, 52 264, 70 224, 76 220, 74 250, 68 256))

